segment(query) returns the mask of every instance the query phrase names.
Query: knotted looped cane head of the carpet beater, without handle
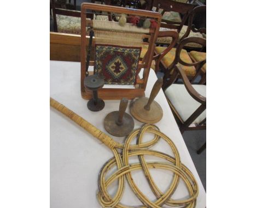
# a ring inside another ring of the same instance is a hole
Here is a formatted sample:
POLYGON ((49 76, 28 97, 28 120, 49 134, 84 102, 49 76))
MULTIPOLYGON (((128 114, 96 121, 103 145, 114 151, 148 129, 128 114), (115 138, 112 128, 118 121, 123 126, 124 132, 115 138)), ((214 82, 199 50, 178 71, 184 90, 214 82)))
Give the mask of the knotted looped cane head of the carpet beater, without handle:
POLYGON ((102 207, 128 207, 120 204, 121 195, 124 191, 124 176, 129 183, 132 191, 138 197, 139 200, 144 204, 141 207, 161 207, 162 205, 168 206, 185 206, 185 207, 195 207, 196 206, 196 197, 198 195, 197 182, 190 172, 190 170, 181 163, 179 152, 170 138, 168 138, 164 133, 160 132, 158 127, 151 124, 146 124, 141 127, 141 129, 133 131, 126 139, 124 144, 123 154, 121 156, 115 156, 106 162, 101 169, 100 175, 98 176, 98 186, 99 191, 97 198, 100 201, 102 207), (149 150, 146 146, 144 148, 137 148, 131 150, 130 143, 133 139, 137 138, 137 145, 141 145, 144 133, 153 133, 156 137, 164 139, 168 145, 170 145, 174 157, 164 154, 159 151, 149 150), (130 156, 138 156, 140 163, 129 164, 130 156), (161 157, 166 162, 146 162, 144 155, 153 155, 156 157, 161 157), (121 159, 120 159, 121 157, 121 159), (120 163, 123 163, 123 166, 119 168, 120 163), (118 166, 117 172, 113 173, 109 178, 106 179, 107 172, 114 166, 118 166), (168 187, 165 193, 162 193, 158 186, 156 186, 152 175, 149 172, 150 168, 159 168, 170 170, 174 173, 173 180, 171 185, 168 187), (132 179, 131 172, 133 170, 142 169, 146 179, 149 183, 152 192, 155 194, 157 200, 150 201, 146 195, 144 195, 139 188, 136 186, 135 182, 132 179), (114 198, 110 198, 107 187, 114 181, 119 180, 118 191, 115 194, 114 198), (189 191, 189 198, 185 200, 174 200, 171 199, 172 194, 176 190, 179 180, 182 179, 185 182, 185 185, 189 191))

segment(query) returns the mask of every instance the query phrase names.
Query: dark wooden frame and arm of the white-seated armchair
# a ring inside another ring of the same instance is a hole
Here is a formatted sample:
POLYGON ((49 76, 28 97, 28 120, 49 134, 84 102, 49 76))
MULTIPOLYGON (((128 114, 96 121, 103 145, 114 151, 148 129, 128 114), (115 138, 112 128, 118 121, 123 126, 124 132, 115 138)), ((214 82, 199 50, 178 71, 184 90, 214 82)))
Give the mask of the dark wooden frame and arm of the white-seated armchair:
MULTIPOLYGON (((166 99, 167 99, 167 101, 170 105, 170 108, 172 110, 172 113, 174 115, 174 118, 176 119, 177 124, 179 126, 179 130, 181 131, 181 133, 183 133, 184 131, 188 131, 188 130, 205 130, 206 129, 206 118, 204 120, 202 120, 201 123, 198 124, 198 126, 189 127, 189 125, 192 124, 193 121, 197 117, 199 117, 199 115, 203 111, 205 111, 205 109, 206 109, 206 97, 197 93, 197 91, 191 85, 187 75, 185 75, 185 72, 183 71, 181 66, 177 64, 177 65, 174 66, 173 76, 175 76, 177 78, 178 75, 181 75, 181 78, 183 80, 183 83, 184 83, 185 88, 187 89, 189 95, 191 95, 191 97, 193 97, 193 99, 195 99, 197 102, 201 103, 199 108, 197 108, 196 111, 193 114, 191 114, 190 117, 187 120, 183 121, 181 116, 178 114, 178 112, 176 111, 176 109, 174 108, 172 103, 170 102, 170 100, 168 100, 167 97, 166 97, 166 99)), ((163 90, 165 91, 171 84, 173 84, 173 82, 168 83, 168 85, 165 85, 163 90)))

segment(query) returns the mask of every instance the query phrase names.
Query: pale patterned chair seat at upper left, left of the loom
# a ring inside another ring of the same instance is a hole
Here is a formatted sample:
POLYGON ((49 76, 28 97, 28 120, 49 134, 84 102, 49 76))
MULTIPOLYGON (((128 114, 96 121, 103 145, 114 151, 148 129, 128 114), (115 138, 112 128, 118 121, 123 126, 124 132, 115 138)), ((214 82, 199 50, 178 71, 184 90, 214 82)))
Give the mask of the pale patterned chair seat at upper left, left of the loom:
POLYGON ((81 18, 56 14, 59 33, 81 34, 81 18))

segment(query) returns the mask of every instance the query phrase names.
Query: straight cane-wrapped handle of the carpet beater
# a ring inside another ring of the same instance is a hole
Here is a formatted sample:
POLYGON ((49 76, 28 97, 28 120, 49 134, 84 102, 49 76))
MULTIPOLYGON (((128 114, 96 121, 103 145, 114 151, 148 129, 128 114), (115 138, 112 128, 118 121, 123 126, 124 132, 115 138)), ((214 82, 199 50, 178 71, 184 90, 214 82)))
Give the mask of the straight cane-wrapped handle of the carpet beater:
POLYGON ((115 142, 115 140, 113 140, 107 134, 103 133, 101 130, 98 130, 94 125, 90 124, 88 121, 84 120, 78 114, 74 113, 66 106, 63 106, 61 103, 59 103, 51 97, 50 106, 54 107, 57 111, 65 114, 68 118, 73 120, 79 126, 83 127, 83 129, 88 131, 90 134, 92 134, 92 136, 96 137, 97 139, 100 139, 101 142, 106 144, 110 149, 113 149, 118 146, 117 142, 115 142))

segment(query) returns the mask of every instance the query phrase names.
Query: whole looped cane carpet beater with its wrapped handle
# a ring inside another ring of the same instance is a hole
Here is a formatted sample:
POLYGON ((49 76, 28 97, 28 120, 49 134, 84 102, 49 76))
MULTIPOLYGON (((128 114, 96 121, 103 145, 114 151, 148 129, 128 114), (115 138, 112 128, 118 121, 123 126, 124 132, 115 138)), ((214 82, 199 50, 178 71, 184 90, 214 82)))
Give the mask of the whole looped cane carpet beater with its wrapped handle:
POLYGON ((109 146, 112 149, 114 157, 108 160, 102 169, 100 170, 100 174, 98 175, 98 193, 97 199, 102 207, 119 207, 119 208, 128 208, 130 206, 126 206, 120 203, 124 192, 124 180, 126 178, 129 186, 132 191, 138 197, 138 199, 142 202, 142 206, 136 207, 161 207, 163 205, 175 206, 175 207, 195 207, 196 206, 196 198, 199 194, 199 190, 197 188, 197 182, 190 172, 190 170, 181 163, 181 159, 179 157, 179 152, 172 142, 170 138, 168 138, 164 133, 160 132, 159 128, 152 124, 146 124, 142 126, 140 129, 134 130, 130 133, 130 135, 126 138, 125 144, 122 145, 120 143, 115 142, 112 138, 108 137, 106 134, 97 130, 95 126, 92 126, 88 121, 85 121, 82 117, 75 114, 65 106, 61 105, 57 101, 51 99, 50 105, 56 108, 58 111, 67 115, 67 117, 71 118, 75 123, 82 126, 85 130, 90 132, 93 136, 102 140, 104 144, 109 146), (88 127, 89 126, 89 127, 88 127), (91 127, 92 126, 92 127, 91 127), (143 143, 144 134, 152 133, 154 138, 149 142, 143 143), (106 139, 107 138, 107 139, 106 139), (150 150, 154 144, 158 142, 158 140, 162 138, 165 142, 170 146, 174 157, 167 155, 163 152, 159 152, 156 150, 150 150), (136 139, 136 144, 131 145, 133 139, 136 139), (123 149, 123 152, 120 154, 117 150, 123 149), (152 155, 155 157, 160 157, 166 162, 147 162, 144 158, 144 155, 152 155), (129 164, 129 157, 138 156, 139 163, 129 164), (114 172, 110 176, 106 176, 108 171, 112 169, 114 166, 117 166, 118 170, 114 172), (159 187, 154 182, 152 175, 150 174, 149 169, 158 168, 170 170, 174 173, 172 177, 172 182, 168 187, 165 193, 162 193, 159 187), (149 183, 152 192, 156 196, 155 201, 151 201, 144 195, 135 182, 132 179, 131 172, 133 170, 141 169, 144 172, 144 175, 149 183), (125 176, 125 178, 124 178, 125 176), (187 199, 177 200, 172 199, 173 193, 176 191, 178 183, 180 180, 183 180, 185 185, 187 186, 189 197, 187 199), (108 186, 111 185, 112 182, 118 180, 118 189, 115 193, 114 197, 110 197, 110 194, 107 192, 108 186))

